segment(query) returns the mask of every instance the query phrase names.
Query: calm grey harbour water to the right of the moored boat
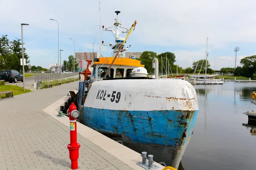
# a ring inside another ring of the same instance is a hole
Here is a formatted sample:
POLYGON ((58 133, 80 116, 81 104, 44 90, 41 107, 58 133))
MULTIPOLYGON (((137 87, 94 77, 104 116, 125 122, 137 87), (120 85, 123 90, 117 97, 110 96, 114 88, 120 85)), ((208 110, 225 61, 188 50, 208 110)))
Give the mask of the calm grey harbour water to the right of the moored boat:
POLYGON ((256 111, 256 82, 195 85, 199 113, 182 158, 185 170, 256 170, 256 127, 242 112, 256 111))

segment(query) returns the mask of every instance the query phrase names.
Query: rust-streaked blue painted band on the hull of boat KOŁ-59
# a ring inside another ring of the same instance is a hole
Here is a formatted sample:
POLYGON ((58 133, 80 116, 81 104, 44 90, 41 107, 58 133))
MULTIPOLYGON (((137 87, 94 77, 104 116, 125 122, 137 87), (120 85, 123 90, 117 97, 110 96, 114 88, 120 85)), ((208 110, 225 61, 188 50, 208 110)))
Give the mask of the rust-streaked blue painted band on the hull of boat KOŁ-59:
POLYGON ((192 135, 198 111, 119 111, 84 107, 84 125, 130 142, 178 147, 192 135))

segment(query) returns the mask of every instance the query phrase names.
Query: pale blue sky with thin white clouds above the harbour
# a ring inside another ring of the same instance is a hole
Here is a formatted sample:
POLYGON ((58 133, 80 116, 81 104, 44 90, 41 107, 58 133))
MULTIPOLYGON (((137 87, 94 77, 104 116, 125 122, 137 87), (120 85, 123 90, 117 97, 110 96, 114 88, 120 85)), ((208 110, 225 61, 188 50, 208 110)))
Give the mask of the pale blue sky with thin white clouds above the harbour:
MULTIPOLYGON (((129 52, 154 51, 157 54, 175 53, 177 64, 192 67, 192 62, 205 59, 206 40, 208 60, 212 69, 235 66, 244 57, 256 54, 256 1, 253 0, 101 0, 100 25, 113 26, 116 14, 119 21, 135 30, 126 45, 129 52)), ((10 40, 21 39, 23 26, 24 48, 31 65, 49 68, 58 60, 67 60, 76 52, 98 51, 98 0, 0 0, 0 35, 10 40), (94 45, 93 45, 93 42, 94 45), (81 51, 80 51, 81 50, 81 51), (55 58, 56 57, 56 58, 55 58)), ((114 44, 111 32, 101 30, 101 39, 114 44)), ((111 48, 102 47, 104 57, 111 48)))

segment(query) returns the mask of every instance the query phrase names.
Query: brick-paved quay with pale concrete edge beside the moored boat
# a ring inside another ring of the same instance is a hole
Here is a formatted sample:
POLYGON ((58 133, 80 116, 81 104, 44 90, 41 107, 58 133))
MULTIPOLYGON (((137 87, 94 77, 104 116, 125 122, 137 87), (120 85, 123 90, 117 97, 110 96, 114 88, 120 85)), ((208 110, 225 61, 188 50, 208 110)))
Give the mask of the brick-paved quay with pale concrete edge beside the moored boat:
MULTIPOLYGON (((37 90, 0 102, 0 170, 71 170, 69 119, 56 115, 70 97, 67 93, 78 84, 37 90)), ((77 129, 79 169, 144 170, 136 164, 142 159, 140 153, 80 123, 77 129)), ((164 168, 154 164, 158 170, 164 168)))

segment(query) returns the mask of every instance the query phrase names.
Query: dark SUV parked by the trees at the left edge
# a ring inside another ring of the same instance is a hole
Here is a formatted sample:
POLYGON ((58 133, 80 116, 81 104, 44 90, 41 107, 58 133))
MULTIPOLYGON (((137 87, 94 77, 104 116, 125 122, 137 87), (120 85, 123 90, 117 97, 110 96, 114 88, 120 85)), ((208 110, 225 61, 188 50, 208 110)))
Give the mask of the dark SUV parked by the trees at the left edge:
POLYGON ((16 70, 3 70, 0 71, 0 80, 4 80, 6 82, 23 82, 23 75, 20 74, 16 70))

